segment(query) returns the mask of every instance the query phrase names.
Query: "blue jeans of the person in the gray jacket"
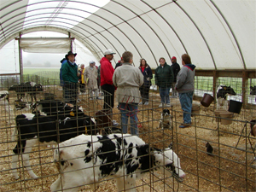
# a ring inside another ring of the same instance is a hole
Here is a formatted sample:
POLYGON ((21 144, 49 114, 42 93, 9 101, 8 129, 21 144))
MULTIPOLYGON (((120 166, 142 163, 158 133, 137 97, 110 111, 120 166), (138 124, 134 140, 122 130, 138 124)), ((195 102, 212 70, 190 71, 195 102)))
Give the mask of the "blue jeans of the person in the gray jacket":
POLYGON ((191 111, 192 111, 192 100, 193 100, 193 91, 188 93, 179 93, 179 102, 183 109, 183 123, 191 123, 191 111))

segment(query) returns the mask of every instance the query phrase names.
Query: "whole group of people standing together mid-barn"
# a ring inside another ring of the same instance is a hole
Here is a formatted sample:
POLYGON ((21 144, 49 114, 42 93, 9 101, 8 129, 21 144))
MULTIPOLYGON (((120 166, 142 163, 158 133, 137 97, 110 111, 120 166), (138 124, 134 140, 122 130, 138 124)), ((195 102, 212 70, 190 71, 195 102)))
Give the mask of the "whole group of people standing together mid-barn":
MULTIPOLYGON (((138 135, 137 108, 138 104, 148 105, 148 93, 153 79, 152 70, 145 59, 141 59, 140 66, 133 67, 133 55, 125 51, 115 69, 111 61, 115 54, 112 49, 104 51, 100 67, 96 68, 95 62, 90 61, 89 67, 78 66, 74 62, 76 54, 69 51, 64 61, 61 61, 61 78, 66 102, 75 103, 77 96, 77 83, 79 77, 82 84, 90 85, 90 91, 97 90, 97 79, 100 79, 101 89, 106 92, 103 109, 113 109, 114 92, 116 90, 121 113, 121 127, 127 133, 127 123, 130 118, 131 134, 138 135), (67 75, 69 74, 69 75, 67 75), (83 80, 84 75, 84 80, 83 80), (142 97, 142 102, 140 98, 142 97)), ((176 57, 172 57, 172 66, 160 57, 160 66, 155 69, 155 84, 160 90, 160 107, 171 107, 169 92, 172 88, 172 97, 177 97, 183 109, 183 124, 181 128, 191 124, 192 98, 194 94, 195 65, 191 64, 187 54, 182 55, 183 67, 180 70, 176 57)), ((81 90, 81 87, 80 87, 81 90)), ((83 91, 83 86, 82 86, 83 91)), ((96 97, 98 97, 96 93, 96 97)))

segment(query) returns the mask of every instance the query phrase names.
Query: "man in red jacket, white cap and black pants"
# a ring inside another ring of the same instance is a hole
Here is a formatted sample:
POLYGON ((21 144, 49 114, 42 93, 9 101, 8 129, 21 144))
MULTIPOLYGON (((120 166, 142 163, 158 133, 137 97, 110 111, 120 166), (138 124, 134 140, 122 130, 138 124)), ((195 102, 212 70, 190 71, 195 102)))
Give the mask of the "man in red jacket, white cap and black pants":
POLYGON ((113 52, 112 49, 107 49, 104 51, 104 57, 102 57, 101 63, 101 87, 105 93, 104 96, 104 109, 113 108, 113 98, 114 98, 114 90, 115 87, 113 85, 113 66, 111 64, 111 60, 113 60, 113 52), (105 92, 107 91, 107 93, 105 92))

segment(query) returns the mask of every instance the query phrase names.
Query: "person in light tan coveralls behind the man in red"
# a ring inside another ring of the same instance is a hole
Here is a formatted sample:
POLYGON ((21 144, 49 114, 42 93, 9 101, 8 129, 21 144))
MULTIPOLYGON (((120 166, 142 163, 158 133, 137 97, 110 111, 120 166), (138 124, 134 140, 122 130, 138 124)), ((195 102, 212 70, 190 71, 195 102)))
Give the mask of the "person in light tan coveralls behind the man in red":
POLYGON ((89 62, 90 66, 84 68, 84 84, 86 84, 89 94, 90 100, 94 98, 100 99, 98 97, 98 85, 97 85, 97 68, 95 66, 95 61, 89 62), (95 97, 94 97, 95 94, 95 97))

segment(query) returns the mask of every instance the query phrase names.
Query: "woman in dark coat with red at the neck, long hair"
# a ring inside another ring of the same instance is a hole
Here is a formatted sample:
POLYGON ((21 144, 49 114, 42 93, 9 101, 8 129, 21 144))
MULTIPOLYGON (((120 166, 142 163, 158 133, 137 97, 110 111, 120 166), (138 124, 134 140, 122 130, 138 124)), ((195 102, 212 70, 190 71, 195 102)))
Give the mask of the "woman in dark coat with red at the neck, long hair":
POLYGON ((140 87, 141 96, 143 101, 139 104, 148 105, 149 99, 149 88, 151 86, 151 79, 153 78, 151 68, 148 66, 148 63, 145 59, 141 59, 141 64, 139 67, 140 71, 144 76, 144 84, 140 87))

